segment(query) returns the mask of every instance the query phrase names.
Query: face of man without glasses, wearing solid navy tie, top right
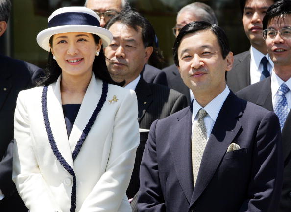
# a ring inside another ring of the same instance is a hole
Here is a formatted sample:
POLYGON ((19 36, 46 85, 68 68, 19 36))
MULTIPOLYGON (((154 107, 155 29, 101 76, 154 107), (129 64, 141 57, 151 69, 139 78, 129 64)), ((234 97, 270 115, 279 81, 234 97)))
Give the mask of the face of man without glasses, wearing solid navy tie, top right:
POLYGON ((243 28, 252 46, 265 45, 262 21, 273 0, 246 0, 243 11, 243 28))

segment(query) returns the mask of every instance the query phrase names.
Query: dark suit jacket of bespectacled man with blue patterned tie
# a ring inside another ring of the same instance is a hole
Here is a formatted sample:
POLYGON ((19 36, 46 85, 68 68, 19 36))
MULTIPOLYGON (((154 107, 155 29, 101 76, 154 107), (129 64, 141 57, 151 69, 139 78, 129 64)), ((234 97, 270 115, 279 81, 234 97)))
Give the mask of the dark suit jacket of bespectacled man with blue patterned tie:
MULTIPOLYGON (((237 96, 273 111, 271 77, 242 89, 237 96)), ((279 212, 291 212, 291 112, 282 129, 282 144, 284 178, 279 212)))

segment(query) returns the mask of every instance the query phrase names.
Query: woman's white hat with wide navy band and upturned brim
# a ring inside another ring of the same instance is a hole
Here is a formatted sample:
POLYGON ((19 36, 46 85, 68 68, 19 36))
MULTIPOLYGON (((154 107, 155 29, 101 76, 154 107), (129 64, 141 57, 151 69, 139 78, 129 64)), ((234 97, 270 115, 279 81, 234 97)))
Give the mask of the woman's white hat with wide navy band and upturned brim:
POLYGON ((100 27, 99 16, 87 7, 63 7, 57 9, 49 16, 48 28, 38 33, 36 41, 40 47, 50 51, 50 37, 66 32, 96 34, 102 39, 104 48, 112 41, 112 33, 100 27))

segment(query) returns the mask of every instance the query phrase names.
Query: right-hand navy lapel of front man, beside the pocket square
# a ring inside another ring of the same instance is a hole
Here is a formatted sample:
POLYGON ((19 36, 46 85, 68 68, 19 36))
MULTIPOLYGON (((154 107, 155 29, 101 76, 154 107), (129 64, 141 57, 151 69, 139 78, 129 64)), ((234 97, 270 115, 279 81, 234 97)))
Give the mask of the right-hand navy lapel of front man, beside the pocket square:
POLYGON ((242 115, 241 104, 236 101, 237 99, 230 92, 218 114, 202 156, 191 205, 198 199, 211 181, 228 146, 242 126, 237 120, 237 117, 242 115))

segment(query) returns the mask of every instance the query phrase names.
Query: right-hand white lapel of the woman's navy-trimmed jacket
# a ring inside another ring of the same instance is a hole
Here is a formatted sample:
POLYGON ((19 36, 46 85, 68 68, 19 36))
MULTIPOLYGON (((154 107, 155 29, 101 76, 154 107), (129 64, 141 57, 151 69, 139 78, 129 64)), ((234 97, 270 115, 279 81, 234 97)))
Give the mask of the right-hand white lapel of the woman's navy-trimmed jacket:
MULTIPOLYGON (((77 142, 79 141, 83 130, 85 129, 89 119, 91 118, 102 94, 102 81, 97 80, 92 74, 91 81, 88 85, 86 94, 83 98, 80 110, 73 124, 73 128, 69 137, 71 153, 73 153, 77 142)), ((112 97, 112 96, 109 96, 112 97)), ((84 141, 86 142, 86 140, 84 141)))

